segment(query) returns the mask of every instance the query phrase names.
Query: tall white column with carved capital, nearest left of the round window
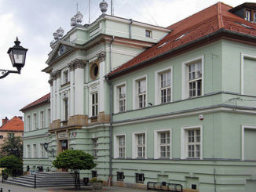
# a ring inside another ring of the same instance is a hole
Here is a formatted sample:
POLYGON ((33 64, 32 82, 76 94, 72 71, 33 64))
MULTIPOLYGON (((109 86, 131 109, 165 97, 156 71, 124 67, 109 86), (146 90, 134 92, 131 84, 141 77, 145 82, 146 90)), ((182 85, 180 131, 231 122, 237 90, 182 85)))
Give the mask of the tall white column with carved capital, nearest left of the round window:
POLYGON ((75 115, 84 114, 84 66, 82 60, 75 60, 75 115))

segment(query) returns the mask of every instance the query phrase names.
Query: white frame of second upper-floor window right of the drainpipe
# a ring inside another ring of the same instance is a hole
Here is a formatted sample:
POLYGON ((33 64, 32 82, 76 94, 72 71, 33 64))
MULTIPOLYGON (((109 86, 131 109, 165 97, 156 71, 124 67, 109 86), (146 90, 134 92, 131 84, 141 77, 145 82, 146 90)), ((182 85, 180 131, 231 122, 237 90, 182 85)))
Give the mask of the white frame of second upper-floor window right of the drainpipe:
POLYGON ((148 107, 147 105, 148 105, 148 75, 144 75, 139 78, 133 79, 133 110, 146 108, 146 107, 148 107), (144 79, 146 81, 145 107, 139 108, 138 107, 138 82, 140 82, 141 80, 144 80, 144 79))

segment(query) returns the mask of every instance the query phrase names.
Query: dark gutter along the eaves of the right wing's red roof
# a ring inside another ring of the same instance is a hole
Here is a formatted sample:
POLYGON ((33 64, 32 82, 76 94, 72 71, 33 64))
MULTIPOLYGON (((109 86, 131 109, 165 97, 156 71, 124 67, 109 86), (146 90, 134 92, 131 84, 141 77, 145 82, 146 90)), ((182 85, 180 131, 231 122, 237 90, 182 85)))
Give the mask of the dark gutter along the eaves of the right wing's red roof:
POLYGON ((133 65, 133 66, 131 66, 131 67, 128 67, 128 68, 126 68, 126 69, 123 69, 122 71, 118 71, 118 72, 116 72, 115 74, 108 74, 108 75, 106 75, 106 77, 108 77, 109 79, 115 78, 115 76, 118 76, 119 74, 123 74, 125 71, 132 70, 133 68, 137 68, 138 66, 141 66, 141 65, 143 65, 143 64, 145 64, 145 63, 148 63, 148 62, 150 62, 150 61, 152 61, 152 60, 157 60, 157 59, 159 59, 160 57, 166 56, 166 55, 168 55, 168 54, 170 54, 170 53, 174 53, 175 51, 178 51, 179 49, 185 48, 186 46, 192 45, 192 44, 194 44, 194 43, 196 43, 196 42, 201 42, 201 41, 206 40, 206 39, 208 39, 208 38, 212 38, 212 37, 214 37, 215 35, 218 35, 218 34, 221 34, 221 33, 232 34, 232 35, 240 36, 240 37, 243 37, 243 38, 253 38, 253 39, 256 41, 256 37, 253 36, 253 35, 241 34, 241 33, 237 33, 237 32, 234 32, 234 31, 228 31, 228 30, 226 30, 225 28, 221 28, 221 29, 219 29, 218 31, 215 31, 214 33, 207 34, 206 36, 203 36, 202 38, 198 38, 198 39, 196 39, 196 40, 194 40, 194 41, 192 41, 192 42, 188 42, 188 43, 186 43, 186 44, 184 44, 184 45, 181 45, 181 46, 178 46, 178 47, 176 47, 176 48, 174 48, 174 49, 170 49, 170 50, 167 51, 166 53, 162 53, 162 54, 159 54, 158 56, 152 57, 152 58, 150 58, 150 59, 148 59, 148 60, 144 60, 144 61, 142 61, 141 63, 137 63, 137 64, 135 64, 135 65, 133 65))

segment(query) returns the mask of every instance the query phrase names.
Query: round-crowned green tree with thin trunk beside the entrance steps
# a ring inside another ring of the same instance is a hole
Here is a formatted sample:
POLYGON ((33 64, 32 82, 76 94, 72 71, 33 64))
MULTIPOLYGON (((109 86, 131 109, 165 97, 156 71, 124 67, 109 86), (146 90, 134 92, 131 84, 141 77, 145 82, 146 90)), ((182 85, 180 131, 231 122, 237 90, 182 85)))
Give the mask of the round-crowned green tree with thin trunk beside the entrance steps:
POLYGON ((82 150, 65 150, 60 153, 53 161, 55 168, 71 169, 75 175, 75 187, 80 187, 79 170, 90 170, 97 164, 93 162, 92 155, 83 152, 82 150))

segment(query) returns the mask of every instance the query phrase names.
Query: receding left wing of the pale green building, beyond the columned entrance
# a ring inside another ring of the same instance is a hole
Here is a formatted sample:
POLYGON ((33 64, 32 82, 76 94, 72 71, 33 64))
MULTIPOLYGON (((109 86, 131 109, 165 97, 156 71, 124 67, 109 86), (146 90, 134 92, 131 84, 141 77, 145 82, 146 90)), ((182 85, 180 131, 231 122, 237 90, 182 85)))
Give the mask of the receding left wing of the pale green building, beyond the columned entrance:
POLYGON ((23 159, 24 169, 27 166, 35 170, 39 166, 46 169, 51 167, 48 154, 43 144, 48 140, 48 130, 50 124, 50 94, 42 96, 40 99, 23 107, 20 111, 24 113, 24 137, 23 137, 23 159))

